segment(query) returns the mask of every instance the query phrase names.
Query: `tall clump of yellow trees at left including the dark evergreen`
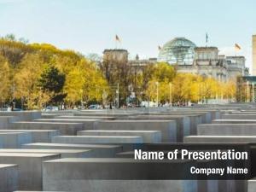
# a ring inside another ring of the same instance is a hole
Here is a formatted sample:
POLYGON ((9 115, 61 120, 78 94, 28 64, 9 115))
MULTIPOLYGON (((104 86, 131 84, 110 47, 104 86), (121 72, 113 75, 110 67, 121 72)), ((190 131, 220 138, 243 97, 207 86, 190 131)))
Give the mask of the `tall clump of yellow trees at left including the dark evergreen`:
POLYGON ((50 44, 26 44, 13 36, 1 38, 0 68, 2 103, 15 102, 20 108, 102 102, 103 93, 108 92, 108 83, 96 63, 50 44))

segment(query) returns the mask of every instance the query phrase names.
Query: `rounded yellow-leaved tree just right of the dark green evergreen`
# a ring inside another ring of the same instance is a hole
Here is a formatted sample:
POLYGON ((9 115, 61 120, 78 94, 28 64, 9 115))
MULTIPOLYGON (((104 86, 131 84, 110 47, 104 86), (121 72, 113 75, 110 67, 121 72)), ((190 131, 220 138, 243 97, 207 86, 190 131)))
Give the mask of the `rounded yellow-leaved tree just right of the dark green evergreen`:
POLYGON ((108 82, 103 78, 96 64, 84 59, 71 67, 67 73, 64 90, 67 93, 66 101, 71 104, 106 102, 103 101, 103 97, 109 94, 108 82))

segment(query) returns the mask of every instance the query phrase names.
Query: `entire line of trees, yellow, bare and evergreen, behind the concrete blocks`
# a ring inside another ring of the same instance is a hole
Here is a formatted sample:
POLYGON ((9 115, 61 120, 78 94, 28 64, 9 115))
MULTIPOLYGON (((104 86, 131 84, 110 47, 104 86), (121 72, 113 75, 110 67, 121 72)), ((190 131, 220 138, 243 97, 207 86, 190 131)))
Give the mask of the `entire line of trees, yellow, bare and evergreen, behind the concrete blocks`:
POLYGON ((88 60, 50 44, 0 38, 0 98, 20 108, 44 108, 62 102, 72 107, 90 102, 198 102, 233 98, 236 86, 199 75, 177 73, 166 63, 132 67, 128 61, 88 60), (132 95, 132 96, 131 96, 132 95))

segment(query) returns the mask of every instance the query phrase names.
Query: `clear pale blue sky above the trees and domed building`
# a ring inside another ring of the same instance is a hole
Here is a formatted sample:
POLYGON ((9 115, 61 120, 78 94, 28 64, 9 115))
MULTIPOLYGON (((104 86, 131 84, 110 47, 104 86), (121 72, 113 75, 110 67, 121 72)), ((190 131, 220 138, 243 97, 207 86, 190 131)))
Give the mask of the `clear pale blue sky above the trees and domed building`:
POLYGON ((255 0, 0 0, 0 35, 14 33, 30 43, 49 43, 84 55, 121 47, 131 56, 158 55, 158 45, 185 37, 196 45, 234 53, 234 44, 251 65, 256 33, 255 0))

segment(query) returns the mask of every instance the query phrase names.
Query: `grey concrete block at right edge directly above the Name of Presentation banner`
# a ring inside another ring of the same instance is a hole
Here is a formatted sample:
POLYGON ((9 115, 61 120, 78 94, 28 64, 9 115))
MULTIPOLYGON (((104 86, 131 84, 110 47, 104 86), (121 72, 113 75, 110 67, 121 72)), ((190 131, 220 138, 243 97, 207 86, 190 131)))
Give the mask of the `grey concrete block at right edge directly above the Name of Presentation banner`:
POLYGON ((256 143, 256 136, 189 136, 184 143, 256 143))

